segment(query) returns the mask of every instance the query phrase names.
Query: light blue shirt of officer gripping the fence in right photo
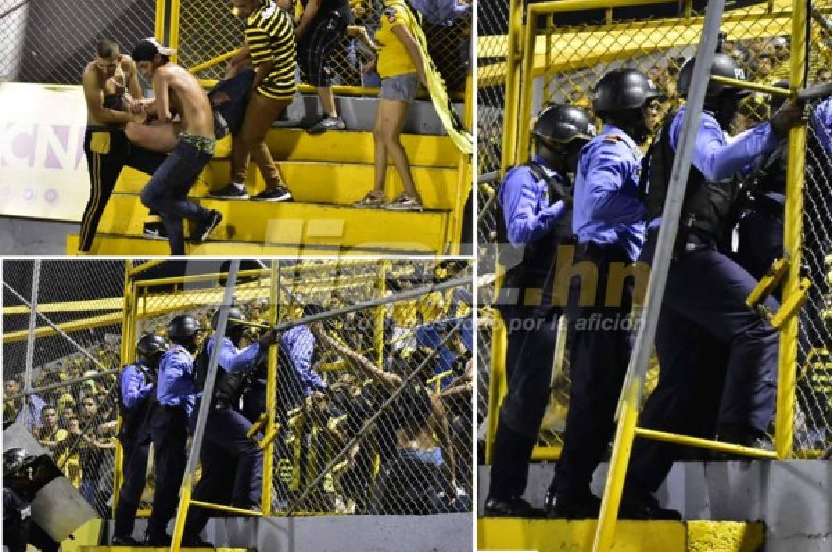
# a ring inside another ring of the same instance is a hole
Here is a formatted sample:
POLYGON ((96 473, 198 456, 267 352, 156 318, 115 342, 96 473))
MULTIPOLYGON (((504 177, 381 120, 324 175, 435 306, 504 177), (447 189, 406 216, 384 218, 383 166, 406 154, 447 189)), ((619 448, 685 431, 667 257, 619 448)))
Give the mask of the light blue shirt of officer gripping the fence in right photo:
MULTIPOLYGON (((685 107, 682 107, 671 122, 670 145, 673 151, 676 151, 681 138, 684 112, 685 107)), ((757 125, 729 141, 716 118, 709 112, 702 112, 691 163, 706 180, 717 182, 737 172, 748 171, 757 157, 773 152, 779 142, 770 122, 757 125)), ((661 216, 650 221, 651 228, 658 226, 661 226, 661 216)))

